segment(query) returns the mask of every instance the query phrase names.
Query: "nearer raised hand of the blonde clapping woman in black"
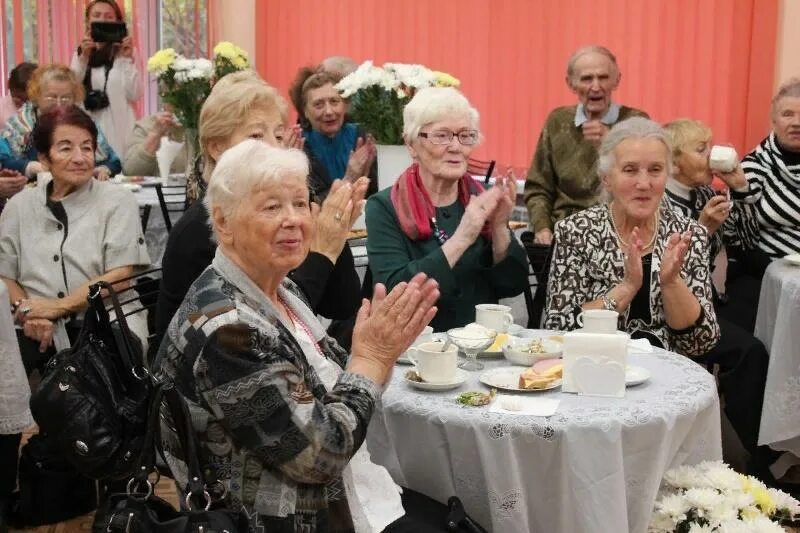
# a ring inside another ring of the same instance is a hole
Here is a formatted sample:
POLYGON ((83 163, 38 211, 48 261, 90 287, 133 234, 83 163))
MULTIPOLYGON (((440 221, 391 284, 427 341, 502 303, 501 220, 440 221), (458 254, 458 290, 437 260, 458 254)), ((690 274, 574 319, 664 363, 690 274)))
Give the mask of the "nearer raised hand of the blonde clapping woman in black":
POLYGON ((336 180, 328 197, 322 202, 322 207, 313 204, 312 212, 316 231, 311 240, 311 251, 324 255, 331 263, 336 263, 352 225, 353 186, 344 180, 336 180))

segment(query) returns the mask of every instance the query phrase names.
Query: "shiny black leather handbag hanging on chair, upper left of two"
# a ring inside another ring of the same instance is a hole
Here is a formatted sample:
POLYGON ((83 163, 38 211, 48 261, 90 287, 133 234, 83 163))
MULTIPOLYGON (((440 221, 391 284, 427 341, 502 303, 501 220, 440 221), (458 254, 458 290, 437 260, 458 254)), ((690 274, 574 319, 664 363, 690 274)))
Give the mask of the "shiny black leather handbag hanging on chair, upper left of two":
POLYGON ((31 412, 78 472, 124 479, 140 466, 154 383, 111 285, 92 285, 88 300, 77 341, 47 363, 31 412), (116 313, 115 328, 103 292, 116 313))

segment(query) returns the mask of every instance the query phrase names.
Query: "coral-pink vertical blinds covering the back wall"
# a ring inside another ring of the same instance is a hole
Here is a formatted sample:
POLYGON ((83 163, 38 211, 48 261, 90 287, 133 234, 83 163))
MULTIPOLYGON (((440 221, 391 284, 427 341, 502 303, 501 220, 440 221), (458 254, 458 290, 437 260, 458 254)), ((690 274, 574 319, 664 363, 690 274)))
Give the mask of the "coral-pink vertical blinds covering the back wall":
POLYGON ((503 165, 527 166, 548 112, 574 102, 566 60, 591 43, 617 54, 617 100, 657 120, 699 118, 740 151, 768 129, 773 0, 266 0, 255 14, 258 69, 284 93, 327 55, 423 63, 461 79, 482 116, 476 156, 503 165))

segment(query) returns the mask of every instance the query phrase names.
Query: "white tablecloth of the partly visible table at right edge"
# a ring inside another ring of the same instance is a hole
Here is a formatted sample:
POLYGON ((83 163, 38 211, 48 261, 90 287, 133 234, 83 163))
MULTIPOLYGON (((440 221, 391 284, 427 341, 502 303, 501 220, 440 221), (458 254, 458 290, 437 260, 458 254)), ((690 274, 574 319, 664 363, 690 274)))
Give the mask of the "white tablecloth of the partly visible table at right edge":
POLYGON ((758 443, 800 456, 800 267, 784 259, 767 267, 755 336, 769 352, 758 443))

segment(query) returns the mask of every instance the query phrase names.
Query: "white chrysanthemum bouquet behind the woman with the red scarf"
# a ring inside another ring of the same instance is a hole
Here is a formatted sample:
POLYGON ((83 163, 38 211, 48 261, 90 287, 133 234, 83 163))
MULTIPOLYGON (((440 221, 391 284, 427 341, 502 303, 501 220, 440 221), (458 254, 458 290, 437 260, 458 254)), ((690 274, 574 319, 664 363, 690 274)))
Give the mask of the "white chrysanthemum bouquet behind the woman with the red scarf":
POLYGON ((422 65, 365 61, 336 85, 350 101, 353 122, 372 133, 380 144, 403 144, 403 108, 425 87, 458 87, 453 76, 422 65))

